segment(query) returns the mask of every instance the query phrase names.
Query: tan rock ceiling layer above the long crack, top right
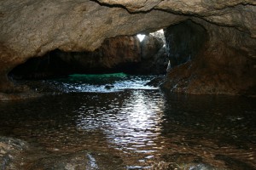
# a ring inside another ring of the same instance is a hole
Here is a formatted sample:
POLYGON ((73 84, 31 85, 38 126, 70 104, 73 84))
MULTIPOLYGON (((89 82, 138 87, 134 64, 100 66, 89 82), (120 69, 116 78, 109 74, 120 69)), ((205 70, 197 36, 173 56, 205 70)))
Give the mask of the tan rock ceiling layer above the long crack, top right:
POLYGON ((98 1, 123 5, 131 12, 148 11, 157 8, 174 14, 196 15, 221 26, 234 26, 250 33, 252 37, 256 37, 256 2, 254 0, 98 1))

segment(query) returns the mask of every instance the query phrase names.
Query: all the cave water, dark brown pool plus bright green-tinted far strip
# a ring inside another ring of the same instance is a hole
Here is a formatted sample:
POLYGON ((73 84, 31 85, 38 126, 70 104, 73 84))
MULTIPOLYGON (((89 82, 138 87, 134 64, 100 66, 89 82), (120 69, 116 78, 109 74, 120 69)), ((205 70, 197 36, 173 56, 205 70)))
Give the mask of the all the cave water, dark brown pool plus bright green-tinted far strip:
POLYGON ((256 169, 256 99, 166 94, 143 86, 151 78, 45 82, 64 93, 1 102, 0 135, 23 139, 44 156, 109 153, 124 169, 256 169))

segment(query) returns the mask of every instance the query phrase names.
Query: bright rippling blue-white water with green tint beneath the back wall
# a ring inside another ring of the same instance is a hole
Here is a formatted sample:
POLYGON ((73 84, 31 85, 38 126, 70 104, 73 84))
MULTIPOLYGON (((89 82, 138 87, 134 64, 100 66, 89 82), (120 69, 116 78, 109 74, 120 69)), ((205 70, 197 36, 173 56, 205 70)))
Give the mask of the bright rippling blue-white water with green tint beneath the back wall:
POLYGON ((103 75, 70 75, 67 78, 56 80, 55 86, 62 91, 70 92, 94 92, 111 93, 125 89, 157 89, 145 85, 154 76, 132 76, 124 73, 103 75))

